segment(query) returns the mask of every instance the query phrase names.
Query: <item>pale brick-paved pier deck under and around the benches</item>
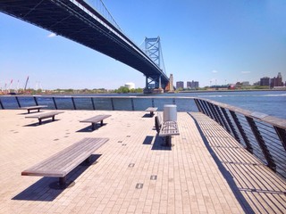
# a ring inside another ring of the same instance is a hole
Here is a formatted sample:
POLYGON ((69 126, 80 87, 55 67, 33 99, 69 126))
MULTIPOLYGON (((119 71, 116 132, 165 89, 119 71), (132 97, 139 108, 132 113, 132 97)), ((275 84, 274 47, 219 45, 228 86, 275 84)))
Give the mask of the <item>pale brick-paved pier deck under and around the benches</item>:
POLYGON ((285 179, 200 112, 178 112, 171 147, 145 111, 64 111, 40 126, 22 110, 0 113, 0 213, 286 212, 285 179), (111 117, 95 130, 80 123, 97 114, 111 117), (83 137, 109 141, 71 171, 67 188, 21 177, 83 137))

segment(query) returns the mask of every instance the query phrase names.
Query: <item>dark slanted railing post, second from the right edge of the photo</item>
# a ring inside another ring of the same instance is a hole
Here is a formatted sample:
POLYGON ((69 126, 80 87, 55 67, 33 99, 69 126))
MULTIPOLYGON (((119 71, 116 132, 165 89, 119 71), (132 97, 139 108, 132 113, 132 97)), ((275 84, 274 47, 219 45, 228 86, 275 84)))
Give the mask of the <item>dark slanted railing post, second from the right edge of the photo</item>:
POLYGON ((257 139, 257 143, 259 144, 263 154, 265 155, 265 160, 267 161, 268 167, 273 169, 273 171, 276 171, 276 165, 275 165, 275 162, 273 160, 273 157, 272 157, 271 153, 269 152, 267 145, 265 144, 265 140, 263 139, 263 137, 260 134, 260 131, 257 128, 256 122, 254 121, 254 119, 249 118, 247 116, 245 116, 245 118, 248 120, 248 124, 249 124, 254 136, 257 139))

